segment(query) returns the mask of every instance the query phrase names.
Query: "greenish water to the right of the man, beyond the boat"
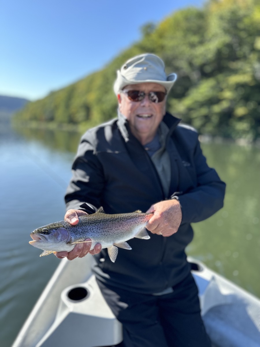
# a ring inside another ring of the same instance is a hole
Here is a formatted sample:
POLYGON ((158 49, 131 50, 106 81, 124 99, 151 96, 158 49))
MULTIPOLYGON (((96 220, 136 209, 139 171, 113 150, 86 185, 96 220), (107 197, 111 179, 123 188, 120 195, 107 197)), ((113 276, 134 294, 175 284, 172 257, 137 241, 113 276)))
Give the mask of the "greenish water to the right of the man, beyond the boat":
POLYGON ((224 208, 193 225, 188 253, 260 297, 260 151, 234 144, 202 144, 202 149, 227 191, 224 208))

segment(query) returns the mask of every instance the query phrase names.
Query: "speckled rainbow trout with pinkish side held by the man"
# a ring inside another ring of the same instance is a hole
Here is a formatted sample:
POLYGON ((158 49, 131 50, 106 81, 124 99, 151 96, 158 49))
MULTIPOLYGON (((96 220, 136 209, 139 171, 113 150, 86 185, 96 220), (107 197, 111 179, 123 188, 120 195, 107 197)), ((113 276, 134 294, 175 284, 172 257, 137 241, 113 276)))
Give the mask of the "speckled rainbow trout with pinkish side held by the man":
POLYGON ((53 252, 70 252, 76 244, 92 242, 90 250, 97 243, 107 248, 110 260, 114 263, 118 255, 118 247, 132 249, 126 242, 134 237, 149 239, 146 225, 152 213, 143 213, 140 210, 131 213, 107 214, 100 207, 93 214, 79 216, 76 225, 62 220, 37 228, 31 232, 34 247, 43 249, 40 255, 45 256, 53 252), (90 240, 85 241, 85 239, 90 240))

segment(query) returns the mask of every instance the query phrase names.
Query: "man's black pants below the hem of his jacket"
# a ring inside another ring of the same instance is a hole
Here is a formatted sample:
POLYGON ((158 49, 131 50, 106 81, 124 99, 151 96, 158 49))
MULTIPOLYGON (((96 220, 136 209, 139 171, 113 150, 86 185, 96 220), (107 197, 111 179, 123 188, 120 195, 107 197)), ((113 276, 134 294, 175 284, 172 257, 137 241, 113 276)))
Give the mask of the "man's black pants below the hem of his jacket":
POLYGON ((211 346, 191 274, 173 287, 173 293, 160 296, 106 286, 99 280, 97 283, 123 324, 123 347, 211 346))

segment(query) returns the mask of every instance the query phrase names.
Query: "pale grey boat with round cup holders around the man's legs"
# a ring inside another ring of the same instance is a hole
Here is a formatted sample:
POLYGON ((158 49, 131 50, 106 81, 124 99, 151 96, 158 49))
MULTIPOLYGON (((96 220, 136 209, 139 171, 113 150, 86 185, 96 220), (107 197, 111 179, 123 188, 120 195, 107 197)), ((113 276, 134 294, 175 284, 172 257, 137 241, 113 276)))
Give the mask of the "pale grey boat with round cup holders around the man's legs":
MULTIPOLYGON (((116 346, 122 325, 91 273, 92 256, 61 260, 12 347, 116 346)), ((214 347, 260 346, 260 300, 188 258, 201 315, 214 347)))

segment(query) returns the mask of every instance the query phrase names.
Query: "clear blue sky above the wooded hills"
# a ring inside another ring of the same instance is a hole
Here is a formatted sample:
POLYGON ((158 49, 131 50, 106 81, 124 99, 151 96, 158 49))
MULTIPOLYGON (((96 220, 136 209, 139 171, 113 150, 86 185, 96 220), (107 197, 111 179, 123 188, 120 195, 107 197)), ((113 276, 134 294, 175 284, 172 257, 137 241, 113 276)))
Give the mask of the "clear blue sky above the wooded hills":
POLYGON ((101 69, 140 28, 203 0, 0 0, 0 95, 44 98, 101 69))

